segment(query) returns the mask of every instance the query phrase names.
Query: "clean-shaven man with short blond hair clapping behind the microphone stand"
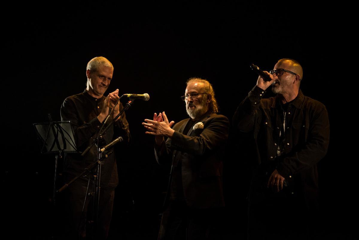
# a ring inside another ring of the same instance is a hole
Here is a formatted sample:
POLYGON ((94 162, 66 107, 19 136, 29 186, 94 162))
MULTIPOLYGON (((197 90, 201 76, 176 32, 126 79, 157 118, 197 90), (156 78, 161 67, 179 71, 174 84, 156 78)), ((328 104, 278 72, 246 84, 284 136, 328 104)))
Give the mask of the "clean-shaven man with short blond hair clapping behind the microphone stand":
MULTIPOLYGON (((89 61, 86 68, 87 84, 84 92, 67 97, 61 106, 61 120, 71 121, 74 129, 76 146, 83 152, 95 139, 101 129, 104 119, 111 113, 106 126, 123 109, 121 102, 115 106, 118 100, 118 89, 104 93, 112 80, 113 66, 105 57, 95 57, 89 61)), ((130 140, 129 124, 125 113, 102 135, 100 146, 110 143, 117 137, 122 137, 125 142, 130 140)), ((116 148, 121 147, 120 144, 116 148)), ((116 149, 115 149, 116 151, 116 149)), ((110 150, 111 152, 111 150, 110 150)), ((106 152, 105 152, 106 154, 106 152)), ((64 179, 68 183, 79 175, 88 165, 97 160, 97 146, 93 146, 89 152, 81 157, 80 154, 67 154, 64 160, 64 179)), ((81 176, 65 192, 67 204, 68 229, 66 239, 85 239, 87 209, 89 195, 92 192, 92 175, 81 176), (85 198, 86 197, 86 198, 85 198), (86 200, 85 200, 86 199, 86 200)), ((115 153, 108 153, 108 157, 101 163, 100 200, 98 209, 98 221, 94 227, 94 239, 106 239, 112 216, 112 206, 115 187, 118 184, 117 164, 115 153)))

